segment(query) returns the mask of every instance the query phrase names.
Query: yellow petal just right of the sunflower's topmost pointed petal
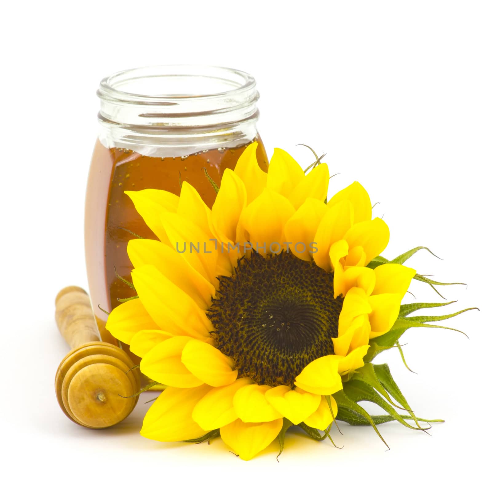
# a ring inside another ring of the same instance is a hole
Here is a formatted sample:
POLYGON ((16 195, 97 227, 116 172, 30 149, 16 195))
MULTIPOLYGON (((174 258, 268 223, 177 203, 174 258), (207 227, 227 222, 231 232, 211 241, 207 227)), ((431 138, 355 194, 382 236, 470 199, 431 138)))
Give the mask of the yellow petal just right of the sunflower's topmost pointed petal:
POLYGON ((267 174, 267 188, 289 197, 296 186, 306 179, 301 166, 282 149, 275 149, 267 174))

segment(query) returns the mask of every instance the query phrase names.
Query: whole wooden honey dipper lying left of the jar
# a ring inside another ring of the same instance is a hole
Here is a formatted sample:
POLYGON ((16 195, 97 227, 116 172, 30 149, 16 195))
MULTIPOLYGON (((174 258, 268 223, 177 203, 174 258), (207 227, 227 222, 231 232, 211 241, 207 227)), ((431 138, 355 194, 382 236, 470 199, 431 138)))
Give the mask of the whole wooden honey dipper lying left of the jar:
POLYGON ((89 296, 65 287, 55 299, 55 319, 71 350, 57 369, 58 403, 70 419, 91 429, 121 422, 135 407, 140 377, 119 347, 100 341, 89 296))

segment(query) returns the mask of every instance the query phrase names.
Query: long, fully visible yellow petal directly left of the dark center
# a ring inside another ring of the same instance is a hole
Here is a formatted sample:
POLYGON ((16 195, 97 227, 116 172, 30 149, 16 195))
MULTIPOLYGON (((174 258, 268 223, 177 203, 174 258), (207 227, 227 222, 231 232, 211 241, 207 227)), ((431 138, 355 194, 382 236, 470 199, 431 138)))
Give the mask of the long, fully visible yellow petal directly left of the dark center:
POLYGON ((205 311, 154 265, 135 268, 131 276, 139 299, 161 329, 174 335, 209 337, 212 324, 205 311))

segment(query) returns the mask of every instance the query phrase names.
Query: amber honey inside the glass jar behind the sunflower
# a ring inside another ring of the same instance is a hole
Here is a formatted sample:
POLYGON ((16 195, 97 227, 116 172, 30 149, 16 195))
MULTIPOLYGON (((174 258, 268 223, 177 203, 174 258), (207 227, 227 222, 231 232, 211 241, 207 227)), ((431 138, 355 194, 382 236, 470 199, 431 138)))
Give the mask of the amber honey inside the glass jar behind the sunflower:
MULTIPOLYGON (((256 157, 266 171, 268 159, 259 137, 256 157)), ((225 169, 234 169, 247 145, 216 148, 177 157, 149 157, 123 148, 106 148, 97 140, 89 173, 86 197, 86 263, 92 306, 103 341, 117 343, 105 330, 106 315, 118 299, 135 291, 118 276, 131 280, 132 265, 126 245, 136 234, 156 239, 135 211, 127 190, 164 189, 179 195, 180 179, 191 184, 211 207, 215 191, 206 177, 220 184, 225 169), (180 178, 181 177, 181 178, 180 178), (133 233, 133 234, 132 234, 133 233), (118 274, 118 276, 117 276, 118 274)))

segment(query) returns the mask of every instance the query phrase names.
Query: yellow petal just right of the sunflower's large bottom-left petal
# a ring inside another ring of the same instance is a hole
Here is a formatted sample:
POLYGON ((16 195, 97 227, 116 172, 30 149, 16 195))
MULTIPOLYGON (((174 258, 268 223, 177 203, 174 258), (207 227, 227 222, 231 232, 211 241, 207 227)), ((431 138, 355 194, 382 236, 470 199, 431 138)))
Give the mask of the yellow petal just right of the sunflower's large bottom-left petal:
POLYGON ((234 395, 239 388, 247 384, 251 384, 251 379, 242 377, 236 379, 232 384, 212 389, 196 404, 191 417, 207 431, 219 429, 234 422, 238 418, 232 404, 234 395))

